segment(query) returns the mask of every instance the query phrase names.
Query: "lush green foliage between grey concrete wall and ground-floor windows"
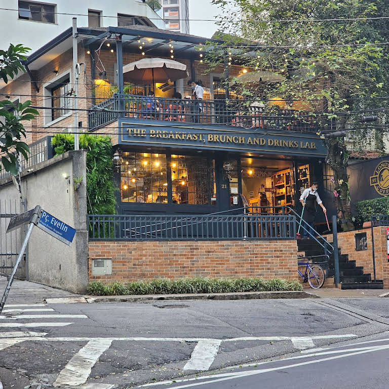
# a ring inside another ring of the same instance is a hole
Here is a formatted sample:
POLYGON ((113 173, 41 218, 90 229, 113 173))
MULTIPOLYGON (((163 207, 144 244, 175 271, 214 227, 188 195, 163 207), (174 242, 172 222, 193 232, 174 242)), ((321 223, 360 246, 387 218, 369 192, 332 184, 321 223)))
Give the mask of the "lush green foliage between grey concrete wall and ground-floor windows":
MULTIPOLYGON (((52 145, 55 155, 74 150, 74 135, 56 134, 52 145)), ((109 136, 80 135, 80 148, 87 151, 88 214, 115 214, 116 185, 112 180, 112 144, 109 136)))

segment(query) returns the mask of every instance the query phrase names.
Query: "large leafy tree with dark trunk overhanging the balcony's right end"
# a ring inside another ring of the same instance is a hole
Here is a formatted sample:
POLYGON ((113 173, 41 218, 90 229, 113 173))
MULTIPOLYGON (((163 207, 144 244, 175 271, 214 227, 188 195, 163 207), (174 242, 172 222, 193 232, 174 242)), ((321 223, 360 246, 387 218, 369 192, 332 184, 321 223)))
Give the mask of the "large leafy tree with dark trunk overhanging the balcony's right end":
MULTIPOLYGON (((317 116, 318 129, 328 146, 327 164, 333 169, 336 206, 343 213, 343 229, 352 229, 351 199, 346 166, 347 142, 343 136, 324 136, 347 131, 348 138, 378 143, 383 151, 383 125, 374 131, 361 125, 360 112, 378 108, 389 94, 389 34, 383 19, 389 15, 385 0, 212 0, 222 10, 219 28, 234 50, 234 58, 251 69, 269 70, 285 80, 266 87, 260 95, 246 88, 247 96, 263 99, 271 111, 271 98, 282 98, 291 109, 317 116), (242 19, 230 19, 231 10, 242 11, 242 19), (369 19, 370 18, 370 19, 369 19), (241 20, 239 20, 241 19, 241 20), (333 20, 341 19, 341 20, 333 20), (234 31, 237 34, 231 35, 234 31), (251 44, 242 44, 243 37, 251 44), (335 127, 334 127, 335 126, 335 127), (324 131, 323 131, 324 130, 324 131), (369 138, 369 139, 368 139, 369 138)), ((220 61, 215 50, 210 61, 220 61)), ((318 133, 320 133, 318 131, 318 133)), ((347 139, 348 139, 347 138, 347 139)))

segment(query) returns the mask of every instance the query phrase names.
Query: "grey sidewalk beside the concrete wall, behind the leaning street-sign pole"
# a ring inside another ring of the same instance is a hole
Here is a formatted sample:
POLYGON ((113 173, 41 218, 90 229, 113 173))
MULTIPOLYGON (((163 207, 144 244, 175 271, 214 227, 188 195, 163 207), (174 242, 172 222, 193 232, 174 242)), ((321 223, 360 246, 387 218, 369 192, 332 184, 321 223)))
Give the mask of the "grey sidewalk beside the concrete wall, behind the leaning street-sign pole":
MULTIPOLYGON (((7 286, 7 278, 0 276, 0 299, 7 286)), ((51 288, 30 281, 14 280, 6 304, 35 304, 42 303, 45 298, 60 298, 77 296, 71 292, 51 288)), ((1 389, 1 386, 0 386, 1 389)))

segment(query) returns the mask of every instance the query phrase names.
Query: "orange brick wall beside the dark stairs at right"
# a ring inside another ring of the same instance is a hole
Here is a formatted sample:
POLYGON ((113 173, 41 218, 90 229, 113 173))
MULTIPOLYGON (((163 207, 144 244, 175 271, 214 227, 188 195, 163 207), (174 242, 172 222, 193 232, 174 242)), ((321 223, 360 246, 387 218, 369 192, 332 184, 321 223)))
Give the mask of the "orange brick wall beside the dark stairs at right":
MULTIPOLYGON (((332 242, 332 235, 326 236, 332 242)), ((373 251, 371 228, 355 231, 339 232, 338 247, 341 254, 348 254, 348 259, 356 261, 357 266, 363 266, 364 273, 370 273, 373 279, 373 251), (355 250, 355 234, 366 232, 367 250, 355 250)), ((389 287, 389 262, 387 261, 386 227, 374 227, 375 271, 377 280, 383 280, 383 287, 389 287)))

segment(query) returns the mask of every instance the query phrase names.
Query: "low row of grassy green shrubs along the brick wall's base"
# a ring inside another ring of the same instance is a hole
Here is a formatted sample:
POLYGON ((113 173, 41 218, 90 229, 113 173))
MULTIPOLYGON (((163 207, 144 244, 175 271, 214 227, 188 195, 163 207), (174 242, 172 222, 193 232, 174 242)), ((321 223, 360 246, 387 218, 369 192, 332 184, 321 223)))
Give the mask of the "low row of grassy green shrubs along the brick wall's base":
POLYGON ((175 293, 228 293, 228 292, 265 292, 265 291, 299 291, 302 285, 298 281, 279 278, 264 280, 262 278, 183 278, 179 280, 153 279, 150 281, 131 281, 104 284, 92 281, 87 293, 92 296, 123 296, 145 294, 175 293))

